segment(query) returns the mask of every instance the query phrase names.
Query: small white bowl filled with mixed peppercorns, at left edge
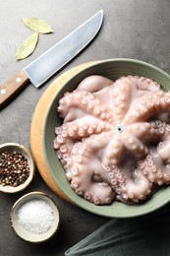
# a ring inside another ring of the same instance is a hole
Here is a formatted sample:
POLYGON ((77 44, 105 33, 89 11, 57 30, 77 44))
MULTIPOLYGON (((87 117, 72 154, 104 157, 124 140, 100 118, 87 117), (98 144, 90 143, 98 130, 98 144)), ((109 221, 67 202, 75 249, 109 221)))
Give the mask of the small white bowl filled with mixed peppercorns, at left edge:
POLYGON ((28 187, 33 178, 34 161, 21 144, 0 145, 0 191, 16 193, 28 187))

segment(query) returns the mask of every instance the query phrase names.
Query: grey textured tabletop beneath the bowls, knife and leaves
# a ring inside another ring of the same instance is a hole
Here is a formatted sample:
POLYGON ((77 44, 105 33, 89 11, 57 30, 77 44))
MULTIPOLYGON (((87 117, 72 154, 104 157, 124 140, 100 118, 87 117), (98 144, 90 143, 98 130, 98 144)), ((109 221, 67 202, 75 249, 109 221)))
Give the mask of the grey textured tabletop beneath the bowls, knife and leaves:
MULTIPOLYGON (((101 9, 104 11, 104 23, 93 42, 43 87, 36 90, 29 85, 0 112, 0 144, 16 142, 30 147, 30 122, 40 96, 59 75, 79 64, 127 57, 141 59, 170 73, 169 0, 5 0, 0 4, 0 82, 5 82, 101 9), (17 47, 30 34, 21 22, 27 17, 47 21, 54 33, 40 34, 34 53, 28 59, 16 61, 17 47)), ((106 222, 107 218, 92 215, 59 198, 36 172, 27 190, 15 195, 0 194, 0 255, 64 255, 66 249, 106 222), (61 213, 58 233, 44 244, 29 244, 20 240, 9 223, 15 201, 35 190, 51 195, 61 213)))

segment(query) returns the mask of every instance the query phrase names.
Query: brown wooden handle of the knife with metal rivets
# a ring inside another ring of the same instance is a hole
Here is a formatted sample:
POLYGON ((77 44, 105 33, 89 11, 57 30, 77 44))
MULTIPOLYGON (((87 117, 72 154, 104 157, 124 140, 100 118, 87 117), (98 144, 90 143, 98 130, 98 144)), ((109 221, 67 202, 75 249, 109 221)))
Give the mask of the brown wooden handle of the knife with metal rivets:
POLYGON ((27 83, 28 75, 23 70, 20 70, 3 85, 0 85, 0 109, 4 107, 12 97, 16 96, 27 83))

